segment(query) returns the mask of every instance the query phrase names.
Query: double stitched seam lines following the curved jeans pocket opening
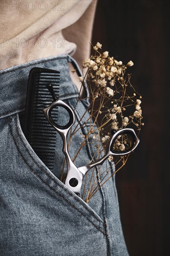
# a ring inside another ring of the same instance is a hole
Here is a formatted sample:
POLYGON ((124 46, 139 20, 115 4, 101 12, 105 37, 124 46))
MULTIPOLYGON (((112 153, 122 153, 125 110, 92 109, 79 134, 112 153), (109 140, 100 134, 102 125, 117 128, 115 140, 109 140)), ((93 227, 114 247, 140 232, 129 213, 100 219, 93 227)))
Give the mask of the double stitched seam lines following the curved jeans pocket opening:
MULTIPOLYGON (((10 120, 11 118, 8 117, 8 119, 10 120)), ((18 147, 17 142, 16 142, 16 140, 15 140, 15 138, 14 138, 14 136, 13 136, 11 120, 9 121, 9 123, 10 123, 10 132, 11 132, 11 135, 12 135, 12 137, 13 137, 13 141, 15 142, 15 146, 17 147, 17 149, 18 149, 18 151, 19 151, 19 153, 20 153, 20 155, 21 155, 23 161, 26 163, 26 165, 29 166, 29 163, 26 161, 26 159, 25 159, 24 156, 22 155, 22 152, 20 151, 20 148, 18 147)), ((16 127, 17 127, 16 118, 15 118, 15 125, 16 125, 16 127)), ((18 129, 18 128, 17 128, 17 129, 18 129)), ((22 140, 22 137, 20 136, 18 130, 17 130, 17 133, 18 133, 18 136, 20 137, 20 140, 21 140, 22 143, 24 144, 24 141, 22 140)), ((25 144, 24 144, 24 145, 25 145, 25 144)), ((25 148, 26 148, 26 147, 25 147, 25 148)), ((39 166, 39 164, 34 161, 33 156, 30 155, 30 153, 29 153, 29 151, 27 150, 27 148, 26 148, 26 152, 27 152, 27 153, 29 154, 29 156, 32 158, 33 162, 40 168, 40 170, 43 171, 44 173, 46 173, 46 171, 43 170, 43 169, 39 166)), ((29 167, 31 167, 31 166, 29 166, 29 167)), ((31 168, 32 168, 32 167, 31 167, 31 168)), ((61 195, 61 194, 60 194, 59 192, 57 192, 53 187, 51 187, 48 183, 46 183, 41 177, 39 177, 39 176, 36 174, 36 172, 34 172, 33 170, 32 170, 32 172, 33 172, 33 174, 35 174, 42 182, 44 182, 48 187, 50 187, 50 189, 52 189, 56 194, 58 194, 59 196, 61 196, 61 197, 65 200, 65 202, 67 202, 67 203, 68 203, 70 206, 72 206, 74 209, 77 209, 77 208, 76 208, 74 205, 72 205, 68 200, 66 200, 63 195, 61 195)), ((58 182, 56 182, 55 180, 53 180, 52 177, 51 177, 48 173, 46 173, 46 175, 47 175, 54 183, 56 183, 57 185, 59 185, 59 187, 61 187, 60 184, 59 184, 58 182)), ((61 188, 62 188, 63 190, 65 190, 65 192, 69 193, 69 191, 67 191, 64 187, 61 187, 61 188)), ((81 201, 78 201, 77 198, 74 197, 71 193, 69 193, 69 195, 71 195, 78 203, 80 203, 83 207, 85 207, 85 205, 83 205, 83 204, 81 203, 81 201)), ((93 212, 89 211, 89 209, 86 208, 86 207, 85 207, 85 209, 86 209, 98 222, 101 223, 101 221, 93 214, 93 212)), ((77 209, 77 210, 78 210, 78 209, 77 209)), ((91 222, 91 220, 88 219, 87 216, 85 216, 85 215, 84 215, 81 211, 79 211, 79 210, 78 210, 78 212, 79 212, 80 214, 82 214, 82 216, 84 216, 90 223, 92 223, 93 226, 95 226, 100 232, 102 232, 102 233, 106 236, 106 234, 105 234, 101 229, 99 229, 93 222, 91 222)))

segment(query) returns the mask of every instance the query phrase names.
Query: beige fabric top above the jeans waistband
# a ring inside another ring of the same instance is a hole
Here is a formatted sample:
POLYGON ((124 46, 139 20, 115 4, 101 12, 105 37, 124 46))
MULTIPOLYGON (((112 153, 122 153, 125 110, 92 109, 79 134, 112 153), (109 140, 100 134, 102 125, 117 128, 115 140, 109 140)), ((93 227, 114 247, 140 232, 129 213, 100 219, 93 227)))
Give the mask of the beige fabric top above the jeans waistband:
POLYGON ((81 66, 90 55, 96 2, 0 0, 0 69, 58 54, 81 66))

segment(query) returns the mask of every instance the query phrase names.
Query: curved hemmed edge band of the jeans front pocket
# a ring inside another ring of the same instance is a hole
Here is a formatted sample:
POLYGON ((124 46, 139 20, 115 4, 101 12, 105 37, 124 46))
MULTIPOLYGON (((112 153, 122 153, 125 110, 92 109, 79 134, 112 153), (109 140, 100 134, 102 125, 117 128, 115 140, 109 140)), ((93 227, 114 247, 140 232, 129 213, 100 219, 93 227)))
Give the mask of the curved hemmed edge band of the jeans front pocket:
POLYGON ((13 147, 18 151, 19 162, 26 164, 27 171, 31 171, 48 189, 56 193, 68 203, 70 207, 77 209, 78 213, 88 219, 97 229, 104 232, 104 222, 100 216, 81 198, 69 190, 33 151, 20 127, 19 115, 13 115, 10 119, 10 132, 13 138, 13 147))

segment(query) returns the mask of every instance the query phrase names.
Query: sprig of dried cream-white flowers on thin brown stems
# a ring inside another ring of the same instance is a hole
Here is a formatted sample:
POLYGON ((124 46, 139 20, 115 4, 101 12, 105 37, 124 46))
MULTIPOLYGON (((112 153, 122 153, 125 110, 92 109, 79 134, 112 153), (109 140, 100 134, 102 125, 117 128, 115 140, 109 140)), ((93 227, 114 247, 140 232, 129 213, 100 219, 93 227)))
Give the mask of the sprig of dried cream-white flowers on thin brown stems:
MULTIPOLYGON (((140 106, 142 96, 131 85, 131 74, 125 74, 126 69, 134 65, 133 62, 129 61, 124 65, 122 61, 117 61, 110 57, 108 51, 100 53, 99 49, 102 48, 102 45, 99 42, 95 46, 92 45, 92 47, 95 54, 83 61, 82 74, 84 74, 84 70, 86 71, 84 76, 79 77, 79 81, 82 84, 85 84, 86 79, 86 85, 90 92, 90 105, 86 110, 86 112, 90 113, 90 117, 85 121, 85 123, 89 122, 89 130, 86 136, 82 136, 84 141, 81 143, 73 161, 80 150, 89 143, 93 143, 96 148, 92 161, 99 159, 105 153, 112 130, 117 131, 120 128, 126 128, 131 125, 140 132, 141 126, 144 125, 140 106)), ((72 71, 72 73, 74 72, 75 70, 72 71)), ((84 99, 78 98, 78 101, 82 100, 84 99)), ((77 126, 71 132, 70 141, 72 136, 79 132, 79 129, 84 124, 81 124, 80 127, 77 126)), ((113 145, 114 150, 118 152, 130 147, 131 140, 125 135, 120 135, 113 145)), ((118 156, 114 159, 109 156, 108 161, 110 164, 108 165, 106 162, 104 171, 104 168, 101 167, 98 167, 97 173, 95 168, 93 169, 88 193, 84 198, 85 202, 88 202, 98 189, 124 166, 127 159, 128 155, 118 156), (116 168, 114 173, 112 172, 113 166, 116 168)))

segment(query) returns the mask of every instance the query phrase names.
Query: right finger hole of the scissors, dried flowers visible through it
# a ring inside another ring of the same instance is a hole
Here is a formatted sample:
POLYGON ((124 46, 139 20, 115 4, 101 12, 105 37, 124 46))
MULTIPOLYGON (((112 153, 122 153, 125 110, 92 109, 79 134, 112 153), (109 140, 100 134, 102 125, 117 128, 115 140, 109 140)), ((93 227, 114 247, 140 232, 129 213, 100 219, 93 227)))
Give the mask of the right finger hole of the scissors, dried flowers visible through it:
POLYGON ((123 132, 111 144, 112 153, 130 153, 136 141, 136 136, 131 132, 123 132))

